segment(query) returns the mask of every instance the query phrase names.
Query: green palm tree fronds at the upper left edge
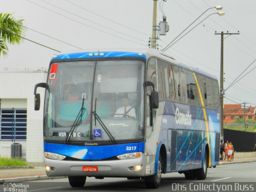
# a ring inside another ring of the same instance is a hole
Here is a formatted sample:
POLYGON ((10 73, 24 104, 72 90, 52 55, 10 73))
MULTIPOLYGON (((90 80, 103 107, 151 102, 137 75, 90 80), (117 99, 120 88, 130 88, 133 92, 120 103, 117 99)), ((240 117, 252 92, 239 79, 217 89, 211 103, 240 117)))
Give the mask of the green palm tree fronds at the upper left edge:
POLYGON ((6 56, 9 44, 22 43, 25 28, 22 25, 24 20, 16 20, 13 14, 0 13, 0 56, 6 56))

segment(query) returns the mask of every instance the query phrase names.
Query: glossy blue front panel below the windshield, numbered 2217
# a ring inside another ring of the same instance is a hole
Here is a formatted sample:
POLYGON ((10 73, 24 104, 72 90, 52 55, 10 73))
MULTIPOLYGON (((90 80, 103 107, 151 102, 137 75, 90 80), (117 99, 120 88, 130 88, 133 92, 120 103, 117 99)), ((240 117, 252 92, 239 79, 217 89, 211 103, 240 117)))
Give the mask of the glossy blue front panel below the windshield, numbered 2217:
POLYGON ((144 146, 144 142, 106 146, 74 146, 44 142, 44 152, 57 153, 82 160, 101 160, 131 152, 144 152, 144 146))

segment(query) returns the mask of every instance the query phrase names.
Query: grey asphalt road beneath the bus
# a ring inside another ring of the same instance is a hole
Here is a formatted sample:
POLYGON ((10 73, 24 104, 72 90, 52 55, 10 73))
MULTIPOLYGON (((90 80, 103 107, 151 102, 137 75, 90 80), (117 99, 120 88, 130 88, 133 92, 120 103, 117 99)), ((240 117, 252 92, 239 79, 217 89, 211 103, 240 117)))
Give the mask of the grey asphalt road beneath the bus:
MULTIPOLYGON (((127 180, 126 178, 98 180, 87 177, 83 188, 72 188, 68 183, 68 178, 16 183, 16 185, 18 185, 17 189, 26 186, 26 192, 256 191, 256 162, 208 168, 207 178, 203 181, 186 180, 184 174, 162 174, 162 182, 158 189, 146 189, 144 180, 127 180)), ((0 191, 2 190, 3 186, 0 185, 0 191)))

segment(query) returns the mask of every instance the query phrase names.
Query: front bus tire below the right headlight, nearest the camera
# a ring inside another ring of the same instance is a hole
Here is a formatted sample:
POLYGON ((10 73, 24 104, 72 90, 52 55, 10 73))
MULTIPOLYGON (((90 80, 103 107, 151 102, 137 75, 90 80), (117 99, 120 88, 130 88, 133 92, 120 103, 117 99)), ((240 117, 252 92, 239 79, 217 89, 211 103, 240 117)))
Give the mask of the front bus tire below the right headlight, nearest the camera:
POLYGON ((162 175, 162 160, 161 160, 161 156, 159 155, 156 174, 146 176, 144 178, 146 188, 157 189, 161 182, 161 175, 162 175))

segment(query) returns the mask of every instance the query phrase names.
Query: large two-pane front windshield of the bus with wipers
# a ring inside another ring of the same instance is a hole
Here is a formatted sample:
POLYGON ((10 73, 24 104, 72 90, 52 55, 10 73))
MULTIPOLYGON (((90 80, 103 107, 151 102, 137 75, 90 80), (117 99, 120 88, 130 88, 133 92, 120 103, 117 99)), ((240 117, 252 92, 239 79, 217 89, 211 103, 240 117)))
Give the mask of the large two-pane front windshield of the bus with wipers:
POLYGON ((144 62, 68 61, 51 64, 44 138, 120 141, 144 138, 144 62))

